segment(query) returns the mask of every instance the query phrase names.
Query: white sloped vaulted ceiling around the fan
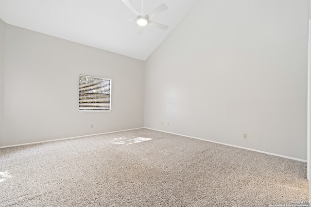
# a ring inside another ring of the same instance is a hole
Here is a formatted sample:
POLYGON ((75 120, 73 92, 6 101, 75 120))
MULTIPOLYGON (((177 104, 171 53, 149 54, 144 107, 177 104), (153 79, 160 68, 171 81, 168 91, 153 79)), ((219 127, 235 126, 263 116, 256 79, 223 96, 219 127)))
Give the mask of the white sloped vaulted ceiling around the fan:
POLYGON ((145 15, 165 3, 169 9, 150 20, 169 28, 147 25, 138 35, 136 21, 121 20, 137 17, 122 0, 0 0, 0 18, 7 24, 146 60, 197 0, 130 1, 145 15))

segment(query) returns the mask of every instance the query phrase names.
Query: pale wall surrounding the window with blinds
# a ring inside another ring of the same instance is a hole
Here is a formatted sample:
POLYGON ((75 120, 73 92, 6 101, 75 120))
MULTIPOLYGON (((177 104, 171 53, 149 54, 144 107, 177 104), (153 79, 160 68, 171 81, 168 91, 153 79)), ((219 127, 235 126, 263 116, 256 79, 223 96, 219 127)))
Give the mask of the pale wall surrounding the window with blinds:
POLYGON ((144 126, 143 61, 12 25, 6 35, 3 146, 144 126), (113 111, 78 112, 79 74, 112 79, 113 111))

